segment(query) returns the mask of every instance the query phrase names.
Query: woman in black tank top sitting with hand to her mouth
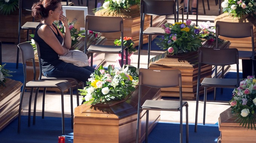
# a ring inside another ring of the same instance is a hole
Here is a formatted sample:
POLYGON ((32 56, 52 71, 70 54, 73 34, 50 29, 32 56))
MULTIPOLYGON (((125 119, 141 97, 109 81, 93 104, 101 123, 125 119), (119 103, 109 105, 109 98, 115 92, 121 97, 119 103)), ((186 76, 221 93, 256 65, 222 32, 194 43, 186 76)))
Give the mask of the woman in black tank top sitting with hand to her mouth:
POLYGON ((66 55, 71 48, 71 35, 67 18, 63 15, 60 0, 41 0, 32 6, 32 16, 41 18, 35 31, 34 40, 40 45, 42 72, 46 77, 73 77, 86 82, 94 69, 90 66, 78 67, 59 60, 58 55, 66 55), (61 21, 65 34, 53 24, 61 21))

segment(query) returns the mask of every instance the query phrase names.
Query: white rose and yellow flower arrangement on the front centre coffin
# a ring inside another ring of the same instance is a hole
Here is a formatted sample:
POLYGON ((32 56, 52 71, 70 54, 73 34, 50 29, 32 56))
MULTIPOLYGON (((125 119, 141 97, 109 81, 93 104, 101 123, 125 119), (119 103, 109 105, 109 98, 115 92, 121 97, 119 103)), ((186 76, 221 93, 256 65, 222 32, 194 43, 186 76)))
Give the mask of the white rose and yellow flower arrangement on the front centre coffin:
POLYGON ((135 67, 117 69, 109 65, 105 70, 102 66, 95 70, 88 79, 84 89, 79 93, 84 96, 84 104, 105 103, 113 100, 122 100, 135 91, 138 84, 138 70, 135 67))

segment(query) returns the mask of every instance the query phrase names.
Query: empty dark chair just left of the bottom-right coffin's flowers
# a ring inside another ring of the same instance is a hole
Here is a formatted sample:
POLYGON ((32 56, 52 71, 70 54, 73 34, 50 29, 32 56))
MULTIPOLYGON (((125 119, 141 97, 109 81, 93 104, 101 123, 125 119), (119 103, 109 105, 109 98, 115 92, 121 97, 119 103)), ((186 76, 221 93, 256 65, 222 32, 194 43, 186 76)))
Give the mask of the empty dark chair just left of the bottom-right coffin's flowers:
POLYGON ((203 125, 205 125, 205 112, 206 112, 206 99, 207 88, 236 88, 239 86, 239 60, 238 50, 236 48, 230 49, 216 49, 200 47, 198 49, 198 79, 197 79, 197 101, 196 101, 196 113, 195 113, 195 132, 197 132, 197 120, 198 120, 198 102, 199 102, 199 88, 204 87, 204 115, 203 125), (203 81, 200 81, 201 65, 208 64, 212 66, 228 66, 236 64, 236 78, 216 78, 217 70, 215 68, 215 77, 206 77, 203 81))

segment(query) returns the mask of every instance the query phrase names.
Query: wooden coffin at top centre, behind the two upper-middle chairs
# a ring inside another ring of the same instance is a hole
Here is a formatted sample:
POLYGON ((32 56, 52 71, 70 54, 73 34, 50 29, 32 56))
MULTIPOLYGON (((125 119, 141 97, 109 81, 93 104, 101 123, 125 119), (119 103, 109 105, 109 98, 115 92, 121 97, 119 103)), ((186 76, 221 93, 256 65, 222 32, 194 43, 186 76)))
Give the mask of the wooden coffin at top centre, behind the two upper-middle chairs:
MULTIPOLYGON (((131 6, 130 11, 123 13, 108 12, 107 10, 100 10, 95 13, 96 16, 121 16, 123 17, 123 36, 132 37, 135 46, 139 45, 140 36, 140 8, 137 5, 131 6)), ((153 16, 153 27, 161 27, 162 24, 166 24, 166 16, 153 16)), ((144 30, 150 25, 150 16, 145 16, 144 30)), ((106 37, 108 41, 106 45, 113 45, 114 40, 120 39, 119 33, 102 33, 102 36, 106 37)), ((152 36, 152 40, 156 36, 152 36)), ((143 43, 148 43, 148 35, 143 36, 143 43)))

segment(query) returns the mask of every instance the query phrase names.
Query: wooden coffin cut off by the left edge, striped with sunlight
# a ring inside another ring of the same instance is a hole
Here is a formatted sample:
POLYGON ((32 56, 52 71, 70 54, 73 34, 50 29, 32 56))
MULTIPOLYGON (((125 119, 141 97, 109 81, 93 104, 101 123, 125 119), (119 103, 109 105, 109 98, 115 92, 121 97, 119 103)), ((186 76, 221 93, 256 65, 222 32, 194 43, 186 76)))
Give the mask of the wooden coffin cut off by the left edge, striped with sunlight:
POLYGON ((6 78, 6 87, 0 87, 0 131, 19 113, 21 82, 6 78))

